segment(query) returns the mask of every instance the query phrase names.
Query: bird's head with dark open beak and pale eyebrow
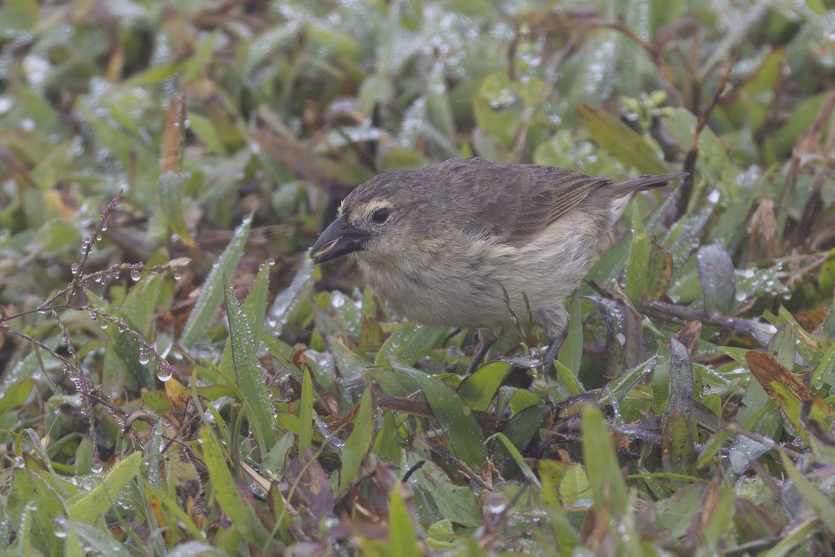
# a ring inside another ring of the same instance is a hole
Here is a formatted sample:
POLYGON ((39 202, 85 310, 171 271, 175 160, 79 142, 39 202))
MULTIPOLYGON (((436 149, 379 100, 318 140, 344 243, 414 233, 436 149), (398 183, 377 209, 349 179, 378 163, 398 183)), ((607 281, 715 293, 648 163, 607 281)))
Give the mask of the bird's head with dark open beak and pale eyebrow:
POLYGON ((360 258, 398 258, 426 238, 423 196, 415 174, 380 174, 355 188, 342 202, 333 221, 311 248, 314 263, 347 253, 360 258))

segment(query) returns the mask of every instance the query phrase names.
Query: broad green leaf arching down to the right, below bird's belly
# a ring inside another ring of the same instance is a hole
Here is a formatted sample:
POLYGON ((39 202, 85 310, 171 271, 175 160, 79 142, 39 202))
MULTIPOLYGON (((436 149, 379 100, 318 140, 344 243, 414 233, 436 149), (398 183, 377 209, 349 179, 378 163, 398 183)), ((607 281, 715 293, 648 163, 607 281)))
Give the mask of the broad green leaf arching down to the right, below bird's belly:
POLYGON ((487 448, 484 446, 484 434, 473 418, 473 409, 440 379, 403 365, 392 368, 414 379, 423 391, 458 458, 474 469, 481 469, 487 459, 487 448))

